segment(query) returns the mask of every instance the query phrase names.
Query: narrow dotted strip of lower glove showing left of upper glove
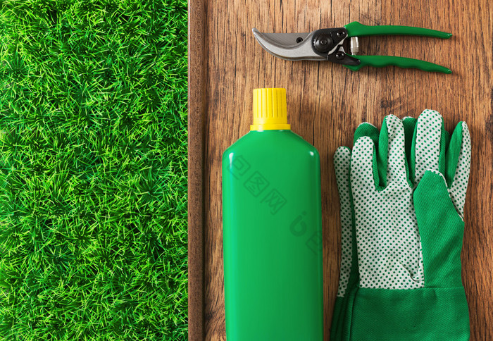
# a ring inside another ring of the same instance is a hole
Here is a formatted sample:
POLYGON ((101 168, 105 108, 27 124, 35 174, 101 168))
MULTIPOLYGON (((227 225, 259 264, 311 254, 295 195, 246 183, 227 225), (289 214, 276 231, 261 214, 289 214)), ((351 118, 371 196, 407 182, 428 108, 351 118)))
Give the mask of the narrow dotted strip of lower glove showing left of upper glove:
POLYGON ((349 273, 351 273, 352 252, 352 221, 351 221, 351 187, 349 184, 349 167, 351 150, 339 147, 334 154, 335 180, 339 192, 341 217, 341 270, 339 273, 339 289, 337 296, 346 294, 349 273))

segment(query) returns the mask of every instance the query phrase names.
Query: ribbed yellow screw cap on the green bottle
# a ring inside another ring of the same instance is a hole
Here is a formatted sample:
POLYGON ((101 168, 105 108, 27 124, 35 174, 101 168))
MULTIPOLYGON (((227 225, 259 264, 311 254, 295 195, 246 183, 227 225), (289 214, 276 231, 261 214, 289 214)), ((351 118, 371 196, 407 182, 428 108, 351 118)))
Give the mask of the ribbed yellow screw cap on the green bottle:
POLYGON ((286 89, 254 89, 254 124, 250 130, 291 129, 287 124, 286 89))

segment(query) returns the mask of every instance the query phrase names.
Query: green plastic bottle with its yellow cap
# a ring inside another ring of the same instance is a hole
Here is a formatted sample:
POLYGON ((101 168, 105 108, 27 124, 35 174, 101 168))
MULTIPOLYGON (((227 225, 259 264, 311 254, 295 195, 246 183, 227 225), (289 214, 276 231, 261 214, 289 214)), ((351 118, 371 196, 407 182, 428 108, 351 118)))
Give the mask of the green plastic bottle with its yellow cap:
POLYGON ((285 89, 254 89, 250 130, 223 154, 227 340, 323 340, 318 151, 285 89))

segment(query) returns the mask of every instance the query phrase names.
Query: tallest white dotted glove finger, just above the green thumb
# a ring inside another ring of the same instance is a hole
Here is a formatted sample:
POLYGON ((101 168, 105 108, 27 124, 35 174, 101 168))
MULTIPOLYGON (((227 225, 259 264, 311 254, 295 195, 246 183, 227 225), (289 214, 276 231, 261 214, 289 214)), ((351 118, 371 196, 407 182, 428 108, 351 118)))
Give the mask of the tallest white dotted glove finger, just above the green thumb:
POLYGON ((416 123, 411 153, 411 169, 413 183, 423 178, 425 171, 439 171, 440 145, 442 138, 443 118, 435 110, 426 109, 416 123))

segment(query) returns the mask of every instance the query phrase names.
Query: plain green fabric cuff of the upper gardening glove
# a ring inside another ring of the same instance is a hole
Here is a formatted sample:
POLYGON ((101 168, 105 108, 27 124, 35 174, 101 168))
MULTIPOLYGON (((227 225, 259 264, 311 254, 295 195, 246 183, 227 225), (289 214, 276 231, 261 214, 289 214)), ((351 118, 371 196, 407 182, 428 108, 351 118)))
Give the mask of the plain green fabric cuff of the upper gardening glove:
POLYGON ((351 340, 469 340, 463 287, 356 289, 351 340))

